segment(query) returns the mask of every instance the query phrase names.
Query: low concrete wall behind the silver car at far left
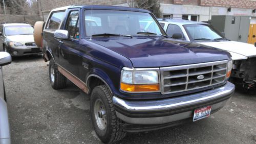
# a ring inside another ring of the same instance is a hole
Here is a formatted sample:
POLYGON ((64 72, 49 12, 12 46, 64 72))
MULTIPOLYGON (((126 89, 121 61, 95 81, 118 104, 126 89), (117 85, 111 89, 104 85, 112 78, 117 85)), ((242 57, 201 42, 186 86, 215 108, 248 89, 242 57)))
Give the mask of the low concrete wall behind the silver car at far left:
POLYGON ((3 22, 28 22, 34 25, 36 21, 42 20, 37 15, 11 15, 11 14, 0 14, 0 23, 3 22))

